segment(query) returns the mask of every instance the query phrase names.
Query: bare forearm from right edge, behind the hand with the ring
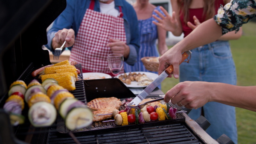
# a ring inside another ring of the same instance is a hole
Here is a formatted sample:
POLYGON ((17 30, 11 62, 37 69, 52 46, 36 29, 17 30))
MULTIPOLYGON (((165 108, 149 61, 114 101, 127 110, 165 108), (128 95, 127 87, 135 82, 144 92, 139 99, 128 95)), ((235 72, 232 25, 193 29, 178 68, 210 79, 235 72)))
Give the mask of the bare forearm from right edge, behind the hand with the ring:
POLYGON ((234 86, 223 83, 210 83, 210 101, 240 107, 256 112, 256 86, 234 86))

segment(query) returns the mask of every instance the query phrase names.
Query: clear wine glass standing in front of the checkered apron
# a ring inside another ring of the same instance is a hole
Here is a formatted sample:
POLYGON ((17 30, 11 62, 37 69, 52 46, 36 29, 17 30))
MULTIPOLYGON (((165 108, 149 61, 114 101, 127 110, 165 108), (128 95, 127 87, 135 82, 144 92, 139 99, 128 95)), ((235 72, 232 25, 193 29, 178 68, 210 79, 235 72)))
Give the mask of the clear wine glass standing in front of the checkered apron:
POLYGON ((115 76, 119 74, 124 64, 124 56, 122 54, 109 54, 108 55, 108 67, 112 74, 115 76))

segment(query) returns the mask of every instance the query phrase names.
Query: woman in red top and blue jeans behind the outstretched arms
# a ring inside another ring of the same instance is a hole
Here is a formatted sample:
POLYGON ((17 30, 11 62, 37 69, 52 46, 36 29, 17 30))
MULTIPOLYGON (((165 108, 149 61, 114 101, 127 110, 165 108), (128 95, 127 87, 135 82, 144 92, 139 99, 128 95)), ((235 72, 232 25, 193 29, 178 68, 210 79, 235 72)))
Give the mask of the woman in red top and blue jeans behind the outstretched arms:
MULTIPOLYGON (((168 15, 159 21, 162 22, 161 24, 166 23, 166 27, 161 26, 174 35, 179 36, 183 32, 186 37, 201 23, 217 14, 220 5, 225 5, 229 1, 171 0, 172 17, 168 15)), ((155 24, 160 26, 160 23, 155 24)), ((215 42, 192 49, 189 63, 181 63, 180 76, 174 75, 174 77, 180 78, 180 82, 207 81, 236 85, 236 67, 228 40, 240 38, 241 33, 241 30, 236 34, 229 32, 215 42)), ((192 109, 188 115, 194 120, 204 115, 211 123, 206 131, 212 138, 217 139, 222 134, 226 134, 234 143, 237 143, 235 107, 209 102, 204 107, 192 109)))

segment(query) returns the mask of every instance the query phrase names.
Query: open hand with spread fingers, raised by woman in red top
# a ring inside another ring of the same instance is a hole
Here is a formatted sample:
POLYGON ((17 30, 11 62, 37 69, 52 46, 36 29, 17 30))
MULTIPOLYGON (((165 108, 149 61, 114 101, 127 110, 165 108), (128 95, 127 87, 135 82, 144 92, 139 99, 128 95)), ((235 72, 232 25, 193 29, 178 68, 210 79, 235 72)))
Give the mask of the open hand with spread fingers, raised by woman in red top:
POLYGON ((152 21, 152 23, 162 27, 166 31, 174 32, 175 29, 177 29, 177 27, 179 26, 179 23, 177 22, 175 17, 175 12, 172 12, 172 16, 170 16, 169 13, 162 6, 160 6, 160 9, 163 11, 166 17, 163 14, 161 14, 159 11, 154 10, 154 12, 156 12, 159 15, 159 17, 161 17, 162 19, 160 19, 159 17, 153 14, 152 16, 158 21, 158 23, 155 21, 152 21))

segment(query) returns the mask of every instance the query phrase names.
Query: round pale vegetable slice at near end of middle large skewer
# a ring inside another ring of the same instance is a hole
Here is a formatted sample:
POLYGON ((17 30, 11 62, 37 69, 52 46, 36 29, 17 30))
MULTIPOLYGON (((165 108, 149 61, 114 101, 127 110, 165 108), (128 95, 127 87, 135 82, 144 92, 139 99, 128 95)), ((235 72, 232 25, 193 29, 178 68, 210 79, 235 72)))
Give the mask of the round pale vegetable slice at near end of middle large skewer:
POLYGON ((52 104, 40 101, 29 108, 28 117, 34 127, 47 127, 56 120, 57 111, 52 104))

